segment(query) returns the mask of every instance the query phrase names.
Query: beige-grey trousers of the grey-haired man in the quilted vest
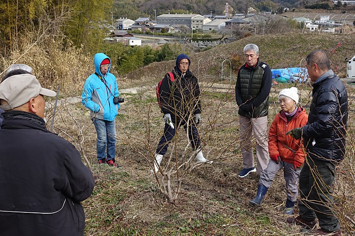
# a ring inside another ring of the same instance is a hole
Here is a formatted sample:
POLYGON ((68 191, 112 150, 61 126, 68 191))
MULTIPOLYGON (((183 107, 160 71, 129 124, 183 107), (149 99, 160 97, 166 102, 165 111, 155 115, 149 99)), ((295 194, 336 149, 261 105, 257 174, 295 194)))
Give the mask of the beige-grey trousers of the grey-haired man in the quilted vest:
POLYGON ((254 132, 254 139, 256 141, 256 173, 260 175, 269 162, 267 116, 259 118, 239 116, 239 123, 243 167, 247 169, 255 166, 251 143, 253 139, 252 132, 254 132))

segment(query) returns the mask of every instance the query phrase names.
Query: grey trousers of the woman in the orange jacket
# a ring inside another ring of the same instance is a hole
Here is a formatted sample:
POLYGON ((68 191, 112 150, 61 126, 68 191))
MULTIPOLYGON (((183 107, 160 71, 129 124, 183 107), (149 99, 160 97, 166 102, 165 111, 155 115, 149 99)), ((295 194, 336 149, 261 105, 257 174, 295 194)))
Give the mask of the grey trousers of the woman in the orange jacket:
POLYGON ((297 183, 302 168, 294 170, 293 164, 291 163, 280 160, 279 164, 276 164, 274 160, 270 160, 268 166, 260 175, 259 184, 264 185, 266 188, 270 188, 276 173, 282 168, 284 168, 287 199, 290 201, 296 201, 298 196, 297 183))

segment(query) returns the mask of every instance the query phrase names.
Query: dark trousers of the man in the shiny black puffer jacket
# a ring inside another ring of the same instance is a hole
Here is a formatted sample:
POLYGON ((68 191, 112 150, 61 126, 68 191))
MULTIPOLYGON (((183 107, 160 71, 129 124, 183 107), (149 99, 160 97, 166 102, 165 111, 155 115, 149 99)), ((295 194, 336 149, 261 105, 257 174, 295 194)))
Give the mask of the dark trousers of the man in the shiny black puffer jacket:
POLYGON ((307 157, 300 173, 300 215, 305 220, 318 218, 320 228, 338 231, 339 221, 335 217, 331 185, 334 181, 335 165, 307 157))

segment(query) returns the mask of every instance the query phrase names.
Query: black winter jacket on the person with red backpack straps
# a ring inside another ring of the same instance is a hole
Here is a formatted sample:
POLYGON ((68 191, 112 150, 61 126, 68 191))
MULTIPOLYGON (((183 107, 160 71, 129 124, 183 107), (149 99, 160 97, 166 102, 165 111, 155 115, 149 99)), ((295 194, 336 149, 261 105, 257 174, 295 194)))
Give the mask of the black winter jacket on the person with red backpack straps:
POLYGON ((166 75, 160 87, 160 109, 163 114, 170 114, 173 123, 180 119, 186 120, 189 116, 201 113, 200 86, 197 78, 188 70, 181 76, 175 68, 175 81, 166 75))

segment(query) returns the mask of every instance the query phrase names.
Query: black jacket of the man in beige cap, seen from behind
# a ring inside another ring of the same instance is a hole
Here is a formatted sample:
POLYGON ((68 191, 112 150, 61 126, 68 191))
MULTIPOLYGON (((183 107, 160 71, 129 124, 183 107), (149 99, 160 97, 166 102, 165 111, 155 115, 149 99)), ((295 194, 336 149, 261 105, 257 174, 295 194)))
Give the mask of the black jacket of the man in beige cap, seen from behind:
POLYGON ((26 112, 5 112, 0 129, 0 235, 83 236, 80 201, 94 178, 67 140, 26 112))

